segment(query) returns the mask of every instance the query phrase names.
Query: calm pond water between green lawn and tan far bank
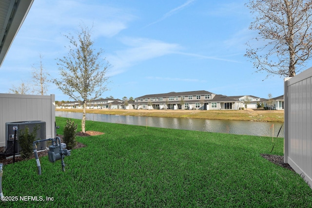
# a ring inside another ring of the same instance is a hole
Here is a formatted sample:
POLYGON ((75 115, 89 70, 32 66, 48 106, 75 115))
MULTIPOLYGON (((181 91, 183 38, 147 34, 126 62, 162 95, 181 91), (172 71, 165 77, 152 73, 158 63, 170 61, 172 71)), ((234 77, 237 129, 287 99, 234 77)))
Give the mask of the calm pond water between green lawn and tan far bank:
MULTIPOLYGON (((56 111, 56 116, 66 118, 82 118, 82 113, 56 111)), ((150 126, 168 129, 183 129, 201 132, 220 132, 256 136, 284 137, 284 125, 279 122, 257 122, 257 121, 232 121, 232 120, 209 120, 198 118, 165 118, 146 117, 131 115, 108 115, 97 113, 86 113, 87 120, 102 121, 108 123, 130 124, 137 126, 150 126)))

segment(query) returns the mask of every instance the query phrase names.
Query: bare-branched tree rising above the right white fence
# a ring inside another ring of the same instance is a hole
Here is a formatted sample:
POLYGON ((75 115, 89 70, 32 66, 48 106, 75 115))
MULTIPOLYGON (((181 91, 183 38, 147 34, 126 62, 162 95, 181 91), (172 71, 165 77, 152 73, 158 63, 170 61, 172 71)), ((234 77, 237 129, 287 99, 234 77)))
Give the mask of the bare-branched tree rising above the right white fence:
POLYGON ((253 39, 262 40, 247 43, 245 56, 256 72, 295 76, 311 58, 312 0, 249 0, 246 5, 255 16, 250 29, 259 34, 253 39))

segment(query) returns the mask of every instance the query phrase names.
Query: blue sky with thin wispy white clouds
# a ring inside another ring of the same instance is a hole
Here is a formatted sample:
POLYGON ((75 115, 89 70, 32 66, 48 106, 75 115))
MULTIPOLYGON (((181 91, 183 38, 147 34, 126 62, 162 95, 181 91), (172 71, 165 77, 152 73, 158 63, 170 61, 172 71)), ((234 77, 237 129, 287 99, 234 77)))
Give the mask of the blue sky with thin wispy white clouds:
MULTIPOLYGON (((206 90, 222 95, 282 95, 283 77, 255 73, 244 57, 253 20, 247 0, 35 0, 1 66, 0 93, 31 82, 32 66, 59 77, 79 25, 92 29, 110 62, 102 97, 206 90)), ((310 64, 311 65, 311 64, 310 64)), ((309 66, 309 64, 308 64, 309 66)), ((72 100, 54 84, 48 95, 72 100)))

